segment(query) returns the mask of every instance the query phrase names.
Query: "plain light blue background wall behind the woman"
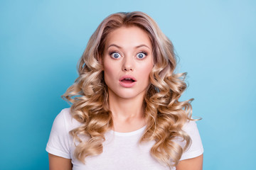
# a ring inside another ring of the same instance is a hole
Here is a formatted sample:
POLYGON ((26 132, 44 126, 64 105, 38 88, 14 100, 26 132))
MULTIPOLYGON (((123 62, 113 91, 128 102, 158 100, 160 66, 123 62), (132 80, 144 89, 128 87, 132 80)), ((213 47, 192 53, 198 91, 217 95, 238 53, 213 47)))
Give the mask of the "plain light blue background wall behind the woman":
POLYGON ((188 72, 182 99, 204 145, 204 169, 255 169, 255 1, 0 1, 0 169, 48 169, 60 96, 90 35, 111 13, 144 11, 188 72))

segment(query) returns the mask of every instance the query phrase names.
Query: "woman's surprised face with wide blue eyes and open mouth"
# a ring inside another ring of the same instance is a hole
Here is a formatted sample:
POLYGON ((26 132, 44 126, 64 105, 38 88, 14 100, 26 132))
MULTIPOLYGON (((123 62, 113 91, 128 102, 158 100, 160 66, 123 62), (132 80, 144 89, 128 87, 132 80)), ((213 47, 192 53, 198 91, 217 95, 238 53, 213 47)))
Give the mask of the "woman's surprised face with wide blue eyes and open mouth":
POLYGON ((149 35, 137 26, 113 30, 107 35, 102 64, 109 96, 144 96, 153 68, 149 35))

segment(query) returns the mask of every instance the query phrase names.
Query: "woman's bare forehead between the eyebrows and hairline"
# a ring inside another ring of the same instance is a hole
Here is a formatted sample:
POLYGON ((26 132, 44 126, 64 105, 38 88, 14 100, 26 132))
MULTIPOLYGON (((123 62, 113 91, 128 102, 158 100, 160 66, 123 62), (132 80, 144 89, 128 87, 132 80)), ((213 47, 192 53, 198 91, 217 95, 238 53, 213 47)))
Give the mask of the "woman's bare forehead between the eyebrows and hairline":
POLYGON ((136 47, 144 44, 152 49, 148 33, 137 26, 121 27, 112 30, 112 32, 107 35, 105 47, 111 44, 125 47, 136 47))

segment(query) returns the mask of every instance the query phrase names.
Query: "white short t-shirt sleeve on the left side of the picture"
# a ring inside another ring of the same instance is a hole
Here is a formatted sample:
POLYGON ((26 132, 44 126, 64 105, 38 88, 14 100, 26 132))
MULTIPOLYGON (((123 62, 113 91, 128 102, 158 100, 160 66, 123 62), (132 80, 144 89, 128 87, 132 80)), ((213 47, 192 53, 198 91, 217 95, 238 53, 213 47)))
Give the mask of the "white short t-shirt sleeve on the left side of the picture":
POLYGON ((65 120, 67 112, 67 109, 63 109, 56 116, 50 131, 46 151, 58 157, 70 159, 70 135, 65 120))

